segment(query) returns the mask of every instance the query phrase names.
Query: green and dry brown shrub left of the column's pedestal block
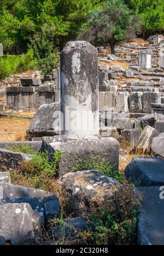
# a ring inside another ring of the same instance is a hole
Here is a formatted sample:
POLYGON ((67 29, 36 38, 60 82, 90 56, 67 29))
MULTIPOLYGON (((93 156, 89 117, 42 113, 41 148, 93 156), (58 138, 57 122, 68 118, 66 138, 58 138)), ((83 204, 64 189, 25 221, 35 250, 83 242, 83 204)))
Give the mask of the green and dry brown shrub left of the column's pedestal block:
POLYGON ((9 170, 11 182, 22 186, 38 188, 46 191, 53 189, 61 151, 54 154, 53 162, 49 161, 48 151, 34 153, 31 160, 21 163, 16 170, 9 170))

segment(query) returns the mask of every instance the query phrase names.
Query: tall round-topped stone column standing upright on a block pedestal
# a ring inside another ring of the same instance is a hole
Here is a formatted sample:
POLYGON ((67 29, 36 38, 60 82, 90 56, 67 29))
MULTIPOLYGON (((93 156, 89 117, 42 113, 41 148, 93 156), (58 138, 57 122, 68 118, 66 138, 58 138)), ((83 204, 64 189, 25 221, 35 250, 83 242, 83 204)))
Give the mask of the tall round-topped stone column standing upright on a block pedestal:
POLYGON ((97 49, 86 41, 68 42, 61 52, 62 135, 99 134, 97 49))

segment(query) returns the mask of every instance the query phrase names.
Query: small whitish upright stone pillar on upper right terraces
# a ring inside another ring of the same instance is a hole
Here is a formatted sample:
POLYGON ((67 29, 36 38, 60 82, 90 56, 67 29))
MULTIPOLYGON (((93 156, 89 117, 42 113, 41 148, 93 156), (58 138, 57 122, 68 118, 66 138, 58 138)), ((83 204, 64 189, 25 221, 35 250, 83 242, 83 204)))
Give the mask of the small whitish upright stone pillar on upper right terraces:
POLYGON ((151 68, 151 49, 144 49, 139 51, 139 66, 142 69, 151 68))

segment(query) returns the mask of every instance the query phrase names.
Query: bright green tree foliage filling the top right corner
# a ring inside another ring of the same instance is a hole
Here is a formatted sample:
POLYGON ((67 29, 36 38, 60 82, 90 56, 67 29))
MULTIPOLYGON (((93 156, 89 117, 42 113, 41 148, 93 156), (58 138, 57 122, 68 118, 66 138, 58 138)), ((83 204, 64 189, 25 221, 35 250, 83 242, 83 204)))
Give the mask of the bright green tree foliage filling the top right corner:
POLYGON ((163 0, 124 0, 129 8, 139 14, 143 21, 143 32, 154 34, 164 30, 163 0))

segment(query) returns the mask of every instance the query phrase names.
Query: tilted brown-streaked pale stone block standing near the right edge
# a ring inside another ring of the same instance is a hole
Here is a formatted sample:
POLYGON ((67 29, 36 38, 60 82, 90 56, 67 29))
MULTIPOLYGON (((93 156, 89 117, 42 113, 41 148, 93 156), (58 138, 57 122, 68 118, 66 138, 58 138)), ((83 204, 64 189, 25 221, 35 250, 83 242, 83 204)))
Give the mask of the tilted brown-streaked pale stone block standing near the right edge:
POLYGON ((138 142, 134 149, 142 153, 149 153, 151 151, 151 143, 154 137, 157 137, 159 132, 153 127, 147 125, 138 138, 138 142))

